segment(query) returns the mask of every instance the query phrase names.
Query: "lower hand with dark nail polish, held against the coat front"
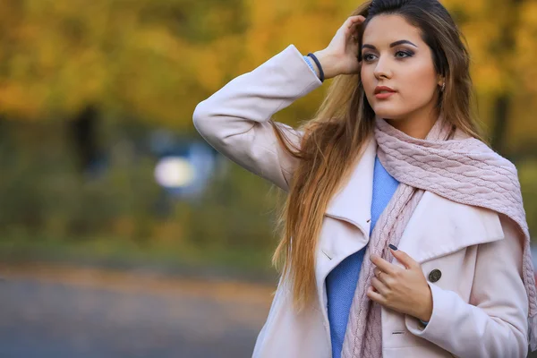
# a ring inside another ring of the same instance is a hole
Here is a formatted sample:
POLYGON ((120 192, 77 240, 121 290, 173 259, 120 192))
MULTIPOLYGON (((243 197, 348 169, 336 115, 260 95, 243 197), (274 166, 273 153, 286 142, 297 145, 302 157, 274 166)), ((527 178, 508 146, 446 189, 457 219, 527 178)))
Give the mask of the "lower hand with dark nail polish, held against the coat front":
POLYGON ((389 250, 405 268, 396 266, 379 255, 371 255, 371 262, 376 268, 367 296, 391 310, 429 321, 432 295, 427 279, 423 276, 422 266, 404 251, 389 250))

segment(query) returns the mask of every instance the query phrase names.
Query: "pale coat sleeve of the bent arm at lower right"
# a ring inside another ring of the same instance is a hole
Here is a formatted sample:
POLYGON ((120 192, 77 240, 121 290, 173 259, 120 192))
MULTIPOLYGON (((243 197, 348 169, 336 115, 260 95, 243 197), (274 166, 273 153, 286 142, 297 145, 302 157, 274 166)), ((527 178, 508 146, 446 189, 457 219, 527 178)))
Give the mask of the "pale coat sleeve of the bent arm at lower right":
POLYGON ((406 328, 457 357, 520 358, 528 350, 528 299, 522 279, 523 244, 516 224, 500 215, 504 238, 478 246, 470 303, 429 283, 433 309, 426 327, 406 328))

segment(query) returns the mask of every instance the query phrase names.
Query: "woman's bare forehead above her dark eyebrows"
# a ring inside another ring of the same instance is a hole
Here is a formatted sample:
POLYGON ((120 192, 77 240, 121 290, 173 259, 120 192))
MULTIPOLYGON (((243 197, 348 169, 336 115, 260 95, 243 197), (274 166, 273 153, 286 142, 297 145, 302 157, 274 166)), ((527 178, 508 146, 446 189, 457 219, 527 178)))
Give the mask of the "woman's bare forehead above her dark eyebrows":
POLYGON ((421 30, 408 23, 403 16, 377 15, 363 31, 362 43, 381 47, 400 39, 412 41, 417 46, 423 43, 421 30))

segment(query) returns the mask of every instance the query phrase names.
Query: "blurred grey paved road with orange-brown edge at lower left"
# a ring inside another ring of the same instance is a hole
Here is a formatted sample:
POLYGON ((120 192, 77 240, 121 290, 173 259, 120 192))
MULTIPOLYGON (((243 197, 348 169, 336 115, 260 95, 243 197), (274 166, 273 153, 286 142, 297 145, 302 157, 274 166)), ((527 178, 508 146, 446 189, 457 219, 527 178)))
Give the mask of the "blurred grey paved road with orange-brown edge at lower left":
POLYGON ((272 287, 2 268, 0 357, 249 357, 272 287))

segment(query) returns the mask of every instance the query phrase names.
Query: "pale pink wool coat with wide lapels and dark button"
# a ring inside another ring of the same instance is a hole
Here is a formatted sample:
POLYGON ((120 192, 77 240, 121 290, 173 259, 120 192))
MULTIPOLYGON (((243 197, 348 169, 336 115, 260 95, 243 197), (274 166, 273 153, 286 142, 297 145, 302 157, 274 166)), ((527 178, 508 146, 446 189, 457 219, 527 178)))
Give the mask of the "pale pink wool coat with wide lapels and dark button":
MULTIPOLYGON (((287 191, 296 161, 280 148, 268 119, 320 84, 299 51, 289 46, 201 102, 194 124, 226 157, 287 191)), ((298 141, 301 133, 294 133, 298 141)), ((253 357, 331 356, 325 278, 368 243, 375 156, 371 139, 326 210, 316 248, 316 307, 295 314, 290 287, 280 282, 253 357)), ((426 328, 413 317, 383 308, 384 357, 526 356, 522 245, 509 220, 425 192, 399 250, 422 264, 425 277, 433 269, 442 275, 429 282, 433 311, 426 328)))

